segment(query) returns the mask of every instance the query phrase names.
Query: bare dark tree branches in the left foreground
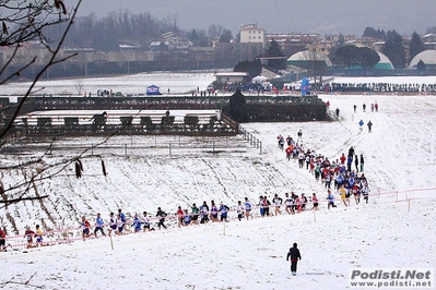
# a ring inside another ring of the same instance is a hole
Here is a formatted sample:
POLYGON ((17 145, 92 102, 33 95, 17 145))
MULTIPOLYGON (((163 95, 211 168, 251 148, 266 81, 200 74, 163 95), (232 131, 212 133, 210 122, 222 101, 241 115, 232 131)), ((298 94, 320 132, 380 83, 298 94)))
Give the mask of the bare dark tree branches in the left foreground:
MULTIPOLYGON (((12 49, 12 53, 8 59, 1 64, 0 75, 4 73, 3 81, 0 85, 10 81, 14 76, 19 76, 21 72, 30 68, 37 60, 37 56, 34 56, 27 62, 22 64, 16 69, 12 68, 12 63, 17 58, 17 52, 20 48, 26 41, 38 41, 48 52, 48 58, 46 58, 44 65, 39 71, 36 72, 33 82, 30 83, 26 88, 25 94, 20 98, 20 101, 13 108, 1 108, 2 112, 8 112, 10 116, 2 128, 0 128, 0 148, 5 144, 5 136, 13 132, 13 123, 20 113, 21 108, 26 102, 28 96, 34 93, 34 87, 39 81, 42 75, 47 72, 47 70, 57 64, 66 61, 67 59, 74 57, 75 55, 68 56, 66 58, 59 58, 59 51, 66 39, 68 32, 70 31, 73 20, 76 15, 78 9, 82 0, 76 0, 74 5, 67 7, 64 0, 34 0, 34 1, 15 1, 15 0, 3 0, 0 1, 0 47, 12 49), (44 29, 51 26, 57 26, 61 24, 67 24, 63 27, 63 33, 57 41, 51 41, 45 37, 44 29)), ((44 156, 44 155, 43 155, 44 156)), ((30 161, 28 164, 20 165, 21 168, 26 166, 36 166, 42 162, 42 158, 30 161)), ((9 170, 11 167, 0 168, 0 170, 9 170)), ((46 196, 36 195, 27 196, 28 190, 34 180, 46 170, 46 168, 39 168, 35 176, 24 182, 17 182, 16 184, 11 184, 9 189, 0 186, 0 193, 3 197, 0 204, 7 206, 11 203, 16 203, 25 200, 39 200, 46 196), (10 191, 13 194, 7 195, 5 193, 10 191)))

